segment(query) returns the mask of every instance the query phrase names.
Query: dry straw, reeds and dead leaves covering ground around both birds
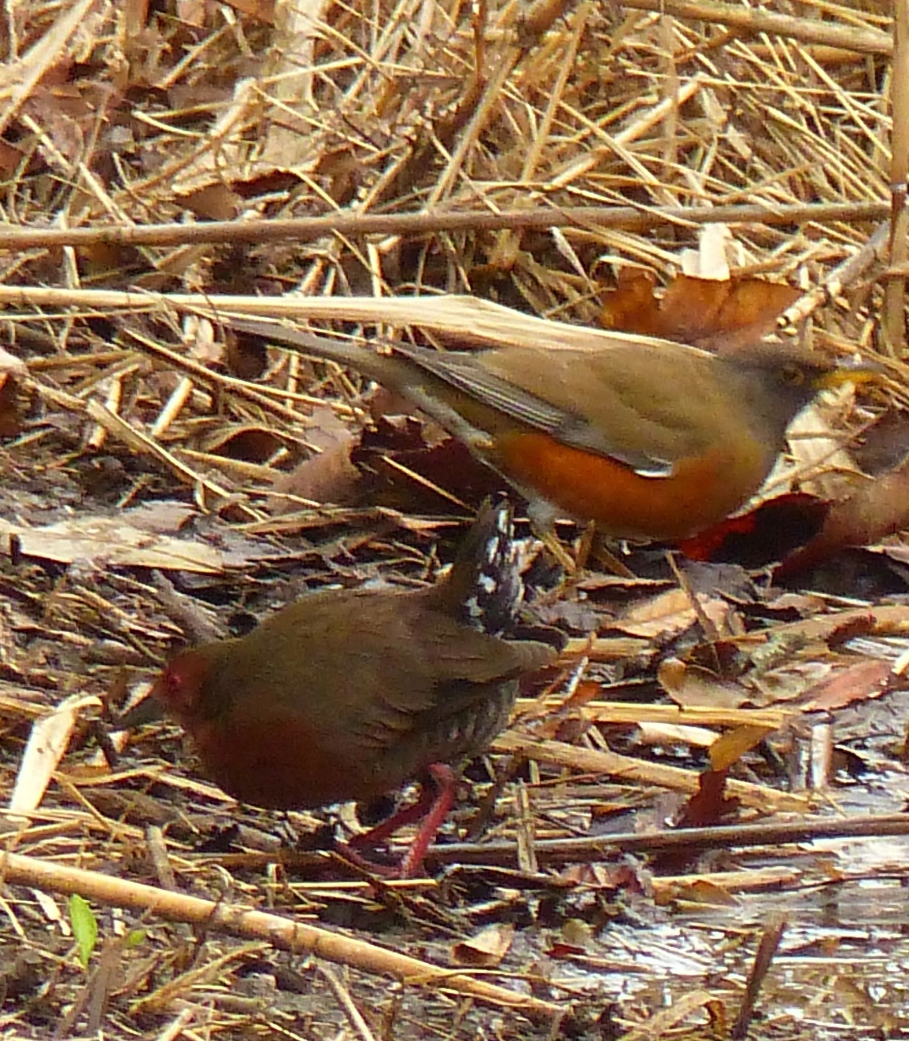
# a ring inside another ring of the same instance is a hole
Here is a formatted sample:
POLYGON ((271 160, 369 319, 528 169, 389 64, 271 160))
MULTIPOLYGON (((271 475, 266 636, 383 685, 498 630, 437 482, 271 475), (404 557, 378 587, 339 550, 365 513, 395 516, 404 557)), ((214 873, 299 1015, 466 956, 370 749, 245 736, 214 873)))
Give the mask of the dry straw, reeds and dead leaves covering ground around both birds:
POLYGON ((909 1029, 907 10, 9 6, 4 1036, 909 1029), (433 580, 496 485, 355 374, 219 314, 715 345, 780 310, 778 335, 888 381, 802 416, 764 510, 686 547, 706 563, 540 579, 572 641, 472 768, 434 880, 351 873, 331 814, 279 836, 172 728, 116 730, 187 637, 327 583, 433 580))

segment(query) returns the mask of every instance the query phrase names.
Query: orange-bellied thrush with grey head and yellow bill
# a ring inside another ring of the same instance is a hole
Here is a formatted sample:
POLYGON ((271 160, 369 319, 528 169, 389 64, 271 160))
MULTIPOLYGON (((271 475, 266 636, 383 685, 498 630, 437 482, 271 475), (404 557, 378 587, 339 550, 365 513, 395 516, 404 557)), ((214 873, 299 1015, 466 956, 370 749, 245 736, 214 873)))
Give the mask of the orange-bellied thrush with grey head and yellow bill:
POLYGON ((541 533, 563 515, 614 537, 686 538, 760 487, 818 390, 869 372, 777 345, 713 355, 592 335, 589 349, 396 341, 383 355, 268 322, 224 323, 408 398, 527 499, 541 533))

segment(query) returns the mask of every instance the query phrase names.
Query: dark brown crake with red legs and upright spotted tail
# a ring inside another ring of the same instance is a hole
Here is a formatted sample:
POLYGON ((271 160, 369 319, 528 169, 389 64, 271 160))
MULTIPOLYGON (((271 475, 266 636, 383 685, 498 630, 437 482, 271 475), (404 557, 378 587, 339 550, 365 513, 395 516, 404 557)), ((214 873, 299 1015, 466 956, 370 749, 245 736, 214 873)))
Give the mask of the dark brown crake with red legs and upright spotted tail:
POLYGON ((487 504, 436 585, 309 593, 247 636, 179 654, 151 693, 243 802, 306 809, 422 780, 414 808, 359 840, 431 804, 401 863, 411 877, 451 807, 450 764, 487 747, 519 678, 555 658, 546 642, 502 635, 522 595, 510 509, 487 504))

